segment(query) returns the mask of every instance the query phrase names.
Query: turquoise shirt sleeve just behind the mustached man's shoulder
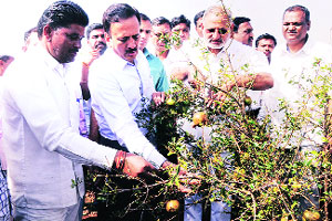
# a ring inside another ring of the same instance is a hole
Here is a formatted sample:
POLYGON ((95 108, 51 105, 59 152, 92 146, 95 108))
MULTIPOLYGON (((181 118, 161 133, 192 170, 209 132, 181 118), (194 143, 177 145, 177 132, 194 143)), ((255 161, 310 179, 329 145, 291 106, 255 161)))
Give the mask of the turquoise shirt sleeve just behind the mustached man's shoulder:
POLYGON ((157 92, 167 92, 169 86, 164 64, 157 56, 151 54, 147 51, 147 49, 144 49, 143 53, 148 61, 151 75, 154 80, 155 90, 157 92))

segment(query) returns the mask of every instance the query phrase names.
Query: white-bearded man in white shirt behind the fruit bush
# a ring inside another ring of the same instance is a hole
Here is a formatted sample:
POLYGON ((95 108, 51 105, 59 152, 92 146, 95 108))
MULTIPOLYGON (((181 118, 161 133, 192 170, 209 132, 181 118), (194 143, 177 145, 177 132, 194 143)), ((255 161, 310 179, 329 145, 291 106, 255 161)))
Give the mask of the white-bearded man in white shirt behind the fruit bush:
MULTIPOLYGON (((231 21, 220 22, 218 19, 227 18, 220 18, 214 12, 214 10, 220 11, 221 9, 216 6, 216 9, 211 7, 210 10, 210 13, 204 15, 205 45, 194 46, 191 51, 186 50, 187 60, 194 65, 187 69, 189 71, 176 73, 175 76, 179 80, 193 80, 189 73, 193 73, 194 66, 195 74, 198 71, 201 74, 200 78, 215 86, 228 91, 234 86, 250 88, 247 94, 253 99, 251 107, 258 108, 261 102, 260 91, 273 86, 269 64, 260 52, 230 39, 231 21), (241 69, 247 64, 249 64, 247 70, 241 69), (231 73, 230 76, 229 73, 231 73), (226 75, 228 77, 225 77, 226 75)), ((222 96, 221 92, 215 95, 217 99, 221 99, 222 96)))

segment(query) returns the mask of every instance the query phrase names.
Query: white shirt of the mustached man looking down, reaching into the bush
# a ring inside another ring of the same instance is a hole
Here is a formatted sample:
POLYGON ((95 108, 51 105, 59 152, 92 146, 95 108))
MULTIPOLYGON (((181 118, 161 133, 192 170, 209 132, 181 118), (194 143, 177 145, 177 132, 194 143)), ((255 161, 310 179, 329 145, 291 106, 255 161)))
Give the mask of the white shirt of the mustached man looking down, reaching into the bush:
POLYGON ((103 137, 117 140, 131 152, 159 167, 166 158, 144 136, 147 131, 138 128, 135 114, 149 105, 155 92, 146 57, 139 51, 135 65, 107 50, 95 61, 89 74, 92 107, 95 112, 103 137))

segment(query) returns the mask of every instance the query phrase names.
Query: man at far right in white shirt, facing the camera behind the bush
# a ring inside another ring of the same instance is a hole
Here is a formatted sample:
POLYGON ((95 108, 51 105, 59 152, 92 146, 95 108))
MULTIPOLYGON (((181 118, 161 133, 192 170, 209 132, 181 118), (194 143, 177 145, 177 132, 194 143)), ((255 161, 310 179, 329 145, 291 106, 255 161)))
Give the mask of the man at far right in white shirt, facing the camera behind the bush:
MULTIPOLYGON (((325 64, 330 66, 332 62, 331 45, 313 41, 308 34, 310 27, 310 12, 305 7, 292 6, 284 10, 282 33, 286 43, 276 46, 272 53, 271 70, 276 84, 273 88, 267 91, 263 99, 264 109, 271 115, 271 120, 277 129, 282 128, 286 119, 284 112, 280 110, 279 107, 280 98, 284 99, 292 108, 291 114, 293 117, 302 113, 301 108, 305 104, 310 113, 309 120, 308 117, 304 117, 305 120, 301 123, 301 131, 293 131, 293 136, 289 141, 289 145, 293 148, 300 146, 302 156, 304 156, 304 152, 320 151, 323 145, 323 131, 318 130, 317 126, 319 116, 315 116, 315 114, 319 113, 319 107, 317 104, 312 104, 312 99, 303 97, 303 95, 307 96, 309 92, 305 90, 312 86, 312 83, 309 82, 318 75, 323 76, 324 74, 320 71, 317 72, 314 63, 321 60, 321 66, 325 64), (295 82, 298 83, 294 84, 295 82)), ((282 131, 280 133, 282 134, 282 131)), ((307 196, 307 199, 299 200, 302 212, 311 207, 319 208, 317 188, 312 188, 312 193, 307 196)))

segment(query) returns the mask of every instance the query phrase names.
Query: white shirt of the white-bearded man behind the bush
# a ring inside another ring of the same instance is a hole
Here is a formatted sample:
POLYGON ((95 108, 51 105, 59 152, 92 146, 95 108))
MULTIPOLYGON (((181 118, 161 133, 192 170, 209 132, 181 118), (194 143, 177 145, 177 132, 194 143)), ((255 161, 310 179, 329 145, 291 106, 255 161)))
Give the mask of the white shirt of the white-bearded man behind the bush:
MULTIPOLYGON (((270 73, 266 56, 250 46, 243 45, 231 39, 225 43, 222 50, 212 54, 207 48, 194 48, 188 53, 190 62, 207 77, 212 85, 222 83, 225 75, 227 80, 235 74, 270 73), (246 70, 242 67, 247 66, 246 70)), ((261 106, 261 91, 248 90, 247 95, 252 99, 251 108, 261 106)))

